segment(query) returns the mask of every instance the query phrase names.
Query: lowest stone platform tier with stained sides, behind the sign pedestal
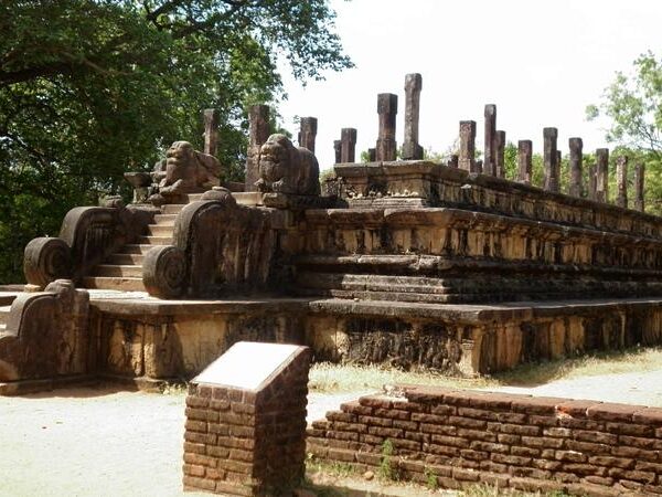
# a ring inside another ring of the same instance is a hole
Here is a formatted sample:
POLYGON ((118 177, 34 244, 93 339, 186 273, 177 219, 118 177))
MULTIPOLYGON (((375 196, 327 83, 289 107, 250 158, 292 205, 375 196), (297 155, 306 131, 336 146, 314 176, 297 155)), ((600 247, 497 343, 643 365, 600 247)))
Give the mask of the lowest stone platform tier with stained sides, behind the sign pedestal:
POLYGON ((306 345, 316 360, 473 376, 662 343, 662 298, 456 305, 90 290, 90 324, 97 371, 116 379, 190 379, 242 340, 306 345))

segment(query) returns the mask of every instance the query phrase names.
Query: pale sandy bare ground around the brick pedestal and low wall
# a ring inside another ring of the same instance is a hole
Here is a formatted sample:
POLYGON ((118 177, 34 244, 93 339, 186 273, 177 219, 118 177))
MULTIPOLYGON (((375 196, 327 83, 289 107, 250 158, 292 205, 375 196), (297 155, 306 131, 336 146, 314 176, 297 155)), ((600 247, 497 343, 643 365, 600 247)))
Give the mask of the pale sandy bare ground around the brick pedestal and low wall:
MULTIPOLYGON (((501 390, 662 406, 662 370, 501 390)), ((309 421, 359 394, 311 393, 309 421)), ((99 387, 0 398, 0 496, 205 495, 181 490, 183 426, 183 393, 99 387)))

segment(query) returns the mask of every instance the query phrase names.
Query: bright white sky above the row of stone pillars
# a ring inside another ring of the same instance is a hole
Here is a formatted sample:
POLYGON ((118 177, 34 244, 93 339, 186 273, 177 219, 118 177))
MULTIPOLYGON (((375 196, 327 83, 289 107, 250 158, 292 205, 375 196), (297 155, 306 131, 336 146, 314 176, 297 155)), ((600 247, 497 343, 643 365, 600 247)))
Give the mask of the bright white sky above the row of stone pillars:
MULTIPOLYGON (((558 128, 558 148, 584 138, 584 149, 605 147, 600 124, 587 123, 597 104, 637 56, 662 49, 660 0, 331 0, 337 32, 356 67, 329 73, 305 88, 285 77, 289 99, 280 105, 287 129, 295 116, 318 118, 320 169, 333 165, 333 140, 357 128, 356 158, 375 146, 378 93, 398 95, 402 145, 405 74, 423 75, 420 145, 446 151, 459 121, 478 124, 496 104, 496 127, 506 139, 532 139, 542 152, 544 127, 558 128)), ((289 74, 289 73, 288 73, 289 74)))

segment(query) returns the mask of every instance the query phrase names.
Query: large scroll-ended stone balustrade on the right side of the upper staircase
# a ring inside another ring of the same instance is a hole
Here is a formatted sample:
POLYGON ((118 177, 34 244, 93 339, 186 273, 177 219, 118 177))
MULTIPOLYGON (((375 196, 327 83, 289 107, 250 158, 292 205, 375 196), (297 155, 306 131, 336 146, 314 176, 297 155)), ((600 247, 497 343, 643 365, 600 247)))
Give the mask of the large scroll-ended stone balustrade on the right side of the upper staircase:
POLYGON ((146 254, 142 281, 159 298, 260 289, 275 246, 271 210, 238 205, 229 191, 214 189, 180 212, 173 245, 146 254))

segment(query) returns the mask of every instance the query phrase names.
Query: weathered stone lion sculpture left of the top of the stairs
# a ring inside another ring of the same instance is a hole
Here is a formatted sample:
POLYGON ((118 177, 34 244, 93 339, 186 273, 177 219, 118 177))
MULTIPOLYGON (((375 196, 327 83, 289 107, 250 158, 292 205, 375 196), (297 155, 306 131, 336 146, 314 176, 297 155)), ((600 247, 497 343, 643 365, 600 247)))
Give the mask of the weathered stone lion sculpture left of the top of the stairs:
POLYGON ((152 203, 167 203, 186 193, 210 190, 221 184, 221 163, 214 156, 193 149, 188 141, 175 141, 166 152, 166 161, 152 173, 159 186, 152 203))

